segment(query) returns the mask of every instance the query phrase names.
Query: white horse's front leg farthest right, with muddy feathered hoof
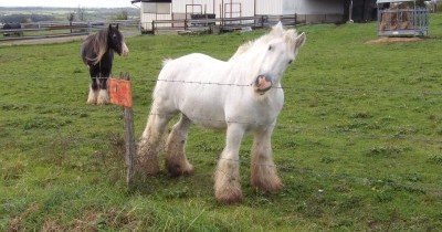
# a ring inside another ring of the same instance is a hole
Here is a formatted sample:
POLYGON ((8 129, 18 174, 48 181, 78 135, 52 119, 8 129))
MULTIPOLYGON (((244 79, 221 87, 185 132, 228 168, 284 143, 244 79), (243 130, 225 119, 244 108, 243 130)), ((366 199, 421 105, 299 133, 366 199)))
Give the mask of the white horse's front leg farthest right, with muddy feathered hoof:
POLYGON ((269 192, 276 192, 283 188, 277 176, 276 166, 272 159, 272 136, 273 127, 259 129, 252 147, 252 184, 269 192))

